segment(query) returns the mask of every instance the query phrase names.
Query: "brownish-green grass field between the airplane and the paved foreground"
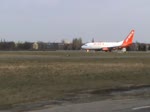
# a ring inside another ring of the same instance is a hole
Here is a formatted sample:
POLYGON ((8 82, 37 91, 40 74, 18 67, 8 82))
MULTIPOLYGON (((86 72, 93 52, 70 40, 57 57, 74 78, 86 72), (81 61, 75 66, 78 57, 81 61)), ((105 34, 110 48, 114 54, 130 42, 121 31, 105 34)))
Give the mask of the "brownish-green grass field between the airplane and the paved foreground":
POLYGON ((150 85, 150 53, 0 52, 0 108, 150 85))

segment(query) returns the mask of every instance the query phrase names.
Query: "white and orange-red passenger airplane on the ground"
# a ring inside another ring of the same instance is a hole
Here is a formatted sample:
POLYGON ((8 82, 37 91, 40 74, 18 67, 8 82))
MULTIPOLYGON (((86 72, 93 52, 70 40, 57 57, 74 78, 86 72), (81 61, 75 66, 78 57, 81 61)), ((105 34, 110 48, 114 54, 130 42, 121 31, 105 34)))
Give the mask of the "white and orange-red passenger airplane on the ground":
POLYGON ((95 51, 112 51, 113 49, 126 49, 126 47, 130 46, 132 44, 134 38, 134 30, 131 30, 129 35, 120 42, 91 42, 86 43, 81 46, 82 49, 85 49, 87 52, 89 50, 95 50, 95 51))

